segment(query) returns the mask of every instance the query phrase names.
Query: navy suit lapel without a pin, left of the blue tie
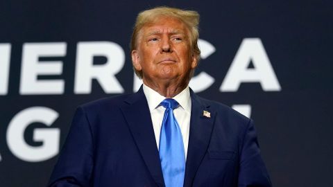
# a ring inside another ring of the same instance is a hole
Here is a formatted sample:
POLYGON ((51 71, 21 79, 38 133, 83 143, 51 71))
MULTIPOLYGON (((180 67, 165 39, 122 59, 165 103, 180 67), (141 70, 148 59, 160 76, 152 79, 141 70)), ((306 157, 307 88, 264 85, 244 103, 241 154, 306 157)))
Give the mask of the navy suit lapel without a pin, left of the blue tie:
POLYGON ((151 176, 158 186, 164 186, 160 156, 158 154, 151 114, 144 91, 141 87, 136 94, 125 100, 121 110, 128 122, 130 132, 133 134, 137 148, 142 154, 151 176))

